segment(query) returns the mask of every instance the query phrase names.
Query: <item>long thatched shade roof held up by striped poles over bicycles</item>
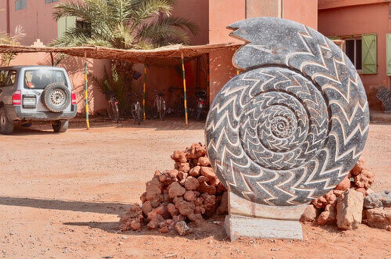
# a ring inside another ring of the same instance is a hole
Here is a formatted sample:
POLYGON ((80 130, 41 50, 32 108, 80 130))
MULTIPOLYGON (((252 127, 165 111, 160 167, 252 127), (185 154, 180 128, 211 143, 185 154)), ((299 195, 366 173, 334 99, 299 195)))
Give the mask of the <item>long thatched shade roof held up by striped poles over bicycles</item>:
POLYGON ((146 63, 148 65, 179 65, 181 63, 181 52, 186 61, 194 59, 202 54, 222 49, 237 49, 241 44, 223 43, 208 45, 170 45, 152 50, 116 49, 98 46, 83 47, 35 47, 21 45, 0 44, 0 53, 65 53, 71 56, 93 59, 127 60, 133 63, 146 63))

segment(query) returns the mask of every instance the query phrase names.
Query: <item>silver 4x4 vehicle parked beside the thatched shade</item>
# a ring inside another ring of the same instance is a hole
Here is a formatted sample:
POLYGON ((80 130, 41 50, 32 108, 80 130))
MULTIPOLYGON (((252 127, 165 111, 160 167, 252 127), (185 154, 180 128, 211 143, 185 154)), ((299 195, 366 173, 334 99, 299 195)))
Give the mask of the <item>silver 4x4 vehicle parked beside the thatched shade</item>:
POLYGON ((55 132, 65 132, 76 111, 64 68, 0 67, 0 133, 11 134, 16 124, 30 126, 33 121, 48 121, 55 132))

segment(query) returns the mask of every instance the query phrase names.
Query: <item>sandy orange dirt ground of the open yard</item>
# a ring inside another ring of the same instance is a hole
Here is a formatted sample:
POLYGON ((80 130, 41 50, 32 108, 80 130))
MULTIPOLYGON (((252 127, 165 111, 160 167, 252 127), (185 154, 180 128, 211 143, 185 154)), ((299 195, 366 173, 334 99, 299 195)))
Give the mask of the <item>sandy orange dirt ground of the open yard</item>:
MULTIPOLYGON (((179 120, 46 125, 0 135, 0 257, 3 258, 391 258, 391 232, 304 224, 304 241, 229 242, 223 218, 186 237, 118 233, 119 217, 140 202, 172 151, 204 142, 203 124, 179 120)), ((372 124, 363 156, 375 191, 391 189, 391 125, 372 124)))

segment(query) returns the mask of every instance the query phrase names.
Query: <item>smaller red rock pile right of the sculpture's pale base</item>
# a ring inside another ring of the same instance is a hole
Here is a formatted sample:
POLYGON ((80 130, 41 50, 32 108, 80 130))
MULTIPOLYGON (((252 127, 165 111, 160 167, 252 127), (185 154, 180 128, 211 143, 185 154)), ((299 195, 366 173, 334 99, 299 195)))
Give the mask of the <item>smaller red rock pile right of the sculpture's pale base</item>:
POLYGON ((362 221, 364 198, 373 193, 370 189, 373 180, 374 174, 365 169, 364 160, 359 159, 334 190, 312 201, 301 221, 337 224, 341 229, 357 228, 362 221))

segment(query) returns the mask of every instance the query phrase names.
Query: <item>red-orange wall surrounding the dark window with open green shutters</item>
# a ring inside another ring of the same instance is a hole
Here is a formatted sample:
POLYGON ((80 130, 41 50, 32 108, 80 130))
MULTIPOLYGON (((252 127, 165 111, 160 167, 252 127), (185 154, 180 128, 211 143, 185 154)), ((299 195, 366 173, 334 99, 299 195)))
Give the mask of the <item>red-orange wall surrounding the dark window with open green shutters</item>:
POLYGON ((319 10, 318 16, 319 31, 326 36, 377 34, 378 73, 360 76, 366 87, 370 108, 380 109, 381 103, 375 96, 377 88, 380 85, 390 84, 386 74, 386 34, 390 31, 389 3, 319 10))

